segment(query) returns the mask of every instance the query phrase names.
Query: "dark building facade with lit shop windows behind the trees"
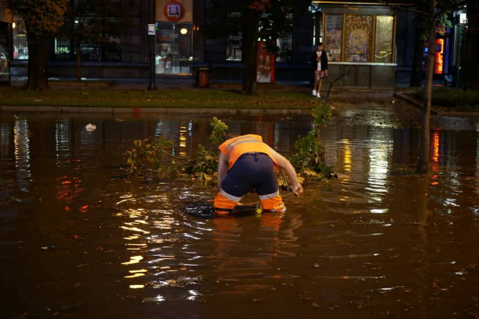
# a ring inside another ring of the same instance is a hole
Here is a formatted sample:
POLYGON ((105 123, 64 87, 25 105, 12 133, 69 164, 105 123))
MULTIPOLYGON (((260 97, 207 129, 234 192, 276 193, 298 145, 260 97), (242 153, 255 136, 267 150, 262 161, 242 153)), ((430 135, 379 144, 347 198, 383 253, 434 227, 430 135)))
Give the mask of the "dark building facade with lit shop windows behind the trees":
MULTIPOLYGON (((82 1, 72 0, 72 6, 82 1)), ((242 80, 241 33, 212 39, 203 33, 208 0, 109 0, 121 14, 103 17, 119 21, 103 41, 58 37, 49 48, 49 76, 75 78, 78 54, 83 78, 149 77, 149 40, 155 37, 157 77, 194 78, 210 68, 212 80, 242 80), (149 35, 151 10, 155 35, 149 35)), ((78 11, 77 11, 78 12, 78 11)), ((231 15, 240 14, 231 12, 231 15)), ((72 16, 65 28, 96 17, 72 16)), ((414 52, 414 14, 380 3, 312 1, 301 17, 289 17, 292 32, 278 39, 276 80, 309 81, 310 55, 323 42, 330 78, 346 73, 335 86, 383 88, 409 83, 414 52)), ((21 19, 13 17, 12 75, 26 76, 28 47, 21 19)))

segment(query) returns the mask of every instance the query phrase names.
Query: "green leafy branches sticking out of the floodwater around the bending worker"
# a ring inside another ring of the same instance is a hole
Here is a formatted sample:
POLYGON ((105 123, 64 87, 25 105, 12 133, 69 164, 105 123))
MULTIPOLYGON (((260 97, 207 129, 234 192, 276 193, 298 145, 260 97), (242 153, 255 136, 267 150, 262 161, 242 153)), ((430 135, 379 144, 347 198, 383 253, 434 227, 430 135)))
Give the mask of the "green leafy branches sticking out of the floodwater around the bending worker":
MULTIPOLYGON (((314 128, 305 137, 298 137, 294 144, 294 153, 291 163, 299 173, 299 181, 317 181, 328 178, 331 167, 321 160, 323 145, 319 138, 319 128, 326 127, 327 122, 332 118, 330 107, 320 103, 312 110, 314 128)), ((228 130, 228 126, 213 117, 210 127, 212 128, 209 137, 212 145, 221 144, 228 130)), ((126 152, 128 155, 128 171, 135 175, 140 171, 151 171, 162 178, 185 178, 200 180, 201 182, 214 183, 218 172, 217 150, 211 150, 198 145, 198 149, 190 159, 174 157, 171 149, 174 141, 165 137, 137 140, 133 142, 133 148, 126 152), (165 157, 172 157, 174 160, 167 160, 165 157)), ((290 182, 285 171, 279 169, 278 184, 280 187, 287 187, 290 182)))

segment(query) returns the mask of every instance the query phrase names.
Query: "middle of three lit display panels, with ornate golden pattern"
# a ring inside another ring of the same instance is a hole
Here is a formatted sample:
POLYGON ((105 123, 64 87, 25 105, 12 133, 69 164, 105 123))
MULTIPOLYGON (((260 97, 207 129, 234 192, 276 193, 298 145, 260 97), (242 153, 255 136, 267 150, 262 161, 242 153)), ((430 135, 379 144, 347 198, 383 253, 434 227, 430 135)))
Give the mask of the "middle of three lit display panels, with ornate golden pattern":
POLYGON ((372 62, 372 38, 372 16, 346 15, 344 60, 347 62, 372 62))

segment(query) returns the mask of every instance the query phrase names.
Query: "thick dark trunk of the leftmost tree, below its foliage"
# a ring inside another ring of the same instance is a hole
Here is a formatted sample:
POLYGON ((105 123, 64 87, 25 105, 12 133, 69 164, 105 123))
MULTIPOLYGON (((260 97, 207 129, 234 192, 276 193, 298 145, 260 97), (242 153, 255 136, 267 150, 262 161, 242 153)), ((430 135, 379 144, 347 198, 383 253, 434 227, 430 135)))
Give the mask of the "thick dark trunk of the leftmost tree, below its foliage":
POLYGON ((28 41, 28 81, 27 89, 42 91, 49 88, 47 76, 47 37, 27 31, 28 41))

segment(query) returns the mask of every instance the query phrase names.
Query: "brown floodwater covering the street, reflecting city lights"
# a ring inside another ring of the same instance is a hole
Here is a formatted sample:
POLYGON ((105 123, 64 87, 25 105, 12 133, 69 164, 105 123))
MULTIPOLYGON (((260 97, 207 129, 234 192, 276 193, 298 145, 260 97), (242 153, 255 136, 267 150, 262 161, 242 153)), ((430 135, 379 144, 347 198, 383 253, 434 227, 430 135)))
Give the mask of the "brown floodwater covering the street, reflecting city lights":
MULTIPOLYGON (((151 135, 191 154, 208 118, 0 114, 1 316, 477 318, 479 119, 433 118, 430 173, 414 175, 416 119, 358 110, 322 131, 340 178, 282 214, 213 219, 183 208, 214 187, 123 167, 151 135)), ((224 119, 284 154, 310 128, 224 119)))

